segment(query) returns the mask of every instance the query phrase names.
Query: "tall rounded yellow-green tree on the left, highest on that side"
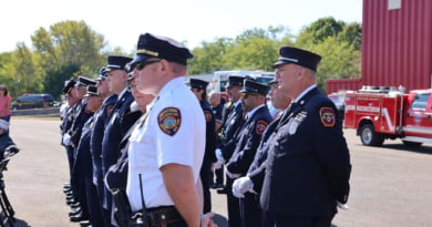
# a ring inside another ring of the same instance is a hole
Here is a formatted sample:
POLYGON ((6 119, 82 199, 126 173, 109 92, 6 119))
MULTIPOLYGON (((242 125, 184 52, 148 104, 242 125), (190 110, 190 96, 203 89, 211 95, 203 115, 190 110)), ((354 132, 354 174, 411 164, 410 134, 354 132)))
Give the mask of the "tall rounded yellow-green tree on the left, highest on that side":
POLYGON ((49 31, 40 28, 31 40, 47 72, 44 85, 55 96, 60 95, 65 79, 76 74, 95 76, 99 68, 106 64, 107 53, 101 53, 105 48, 104 37, 84 21, 62 21, 49 31))

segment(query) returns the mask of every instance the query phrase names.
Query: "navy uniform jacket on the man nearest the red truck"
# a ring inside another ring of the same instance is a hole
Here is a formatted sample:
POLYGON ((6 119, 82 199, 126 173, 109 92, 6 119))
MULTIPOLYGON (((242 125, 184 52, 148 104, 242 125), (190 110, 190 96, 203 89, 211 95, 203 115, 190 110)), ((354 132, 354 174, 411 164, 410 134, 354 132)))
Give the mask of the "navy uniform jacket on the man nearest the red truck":
POLYGON ((317 87, 291 105, 270 142, 261 207, 281 215, 332 216, 336 202, 348 199, 351 173, 337 109, 317 87))

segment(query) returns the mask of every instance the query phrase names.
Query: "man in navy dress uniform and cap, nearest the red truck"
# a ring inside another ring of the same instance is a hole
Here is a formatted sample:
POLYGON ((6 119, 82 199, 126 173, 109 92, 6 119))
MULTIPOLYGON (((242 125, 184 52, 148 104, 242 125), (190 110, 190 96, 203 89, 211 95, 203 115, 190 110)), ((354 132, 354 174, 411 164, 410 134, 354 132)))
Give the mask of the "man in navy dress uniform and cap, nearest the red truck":
POLYGON ((328 227, 349 193, 350 156, 335 104, 316 85, 316 53, 284 47, 274 64, 292 103, 274 131, 260 204, 277 227, 328 227))

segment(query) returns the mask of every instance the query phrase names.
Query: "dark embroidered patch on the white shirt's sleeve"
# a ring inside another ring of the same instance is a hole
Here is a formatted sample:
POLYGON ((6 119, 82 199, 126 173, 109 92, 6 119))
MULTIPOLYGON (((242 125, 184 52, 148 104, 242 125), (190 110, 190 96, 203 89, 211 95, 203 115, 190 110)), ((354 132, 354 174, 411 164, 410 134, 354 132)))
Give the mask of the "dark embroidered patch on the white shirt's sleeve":
POLYGON ((182 124, 182 114, 176 107, 166 107, 157 115, 157 122, 162 132, 173 136, 182 124))

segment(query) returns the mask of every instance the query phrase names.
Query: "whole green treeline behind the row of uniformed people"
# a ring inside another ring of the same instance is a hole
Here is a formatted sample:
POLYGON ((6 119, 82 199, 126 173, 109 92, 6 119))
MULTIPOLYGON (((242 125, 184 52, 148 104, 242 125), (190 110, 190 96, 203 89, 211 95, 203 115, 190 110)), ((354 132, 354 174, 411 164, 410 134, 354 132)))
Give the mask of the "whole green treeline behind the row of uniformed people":
MULTIPOLYGON (((0 53, 0 83, 12 95, 40 92, 60 95, 64 81, 78 74, 94 76, 106 65, 106 55, 131 55, 119 47, 106 47, 102 34, 84 21, 61 21, 31 35, 32 49, 18 43, 12 52, 0 53)), ((251 28, 236 38, 215 38, 192 52, 189 74, 219 70, 272 71, 271 64, 284 45, 304 48, 322 55, 318 85, 327 79, 360 76, 361 25, 322 18, 294 35, 282 25, 251 28)))

